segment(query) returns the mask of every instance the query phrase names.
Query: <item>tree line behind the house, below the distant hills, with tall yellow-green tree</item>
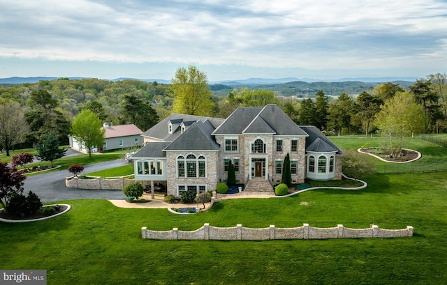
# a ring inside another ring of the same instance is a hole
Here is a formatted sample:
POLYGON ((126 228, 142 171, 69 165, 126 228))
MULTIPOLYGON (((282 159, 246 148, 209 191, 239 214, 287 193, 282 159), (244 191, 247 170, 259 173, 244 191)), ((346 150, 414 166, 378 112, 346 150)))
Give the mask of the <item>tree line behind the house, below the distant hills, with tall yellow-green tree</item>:
POLYGON ((356 98, 342 93, 332 100, 318 91, 315 98, 297 100, 249 88, 233 88, 228 95, 219 96, 211 91, 205 72, 195 66, 178 68, 171 84, 132 79, 42 80, 0 86, 0 145, 7 152, 19 144, 36 145, 48 132, 67 144, 75 117, 85 110, 101 123, 133 123, 145 131, 171 113, 226 118, 239 106, 267 104, 279 105, 299 125, 315 125, 326 134, 384 132, 386 125, 400 125, 406 134, 445 132, 446 89, 446 75, 438 73, 408 88, 391 82, 380 84, 356 98), (403 114, 411 114, 411 125, 402 123, 403 114))

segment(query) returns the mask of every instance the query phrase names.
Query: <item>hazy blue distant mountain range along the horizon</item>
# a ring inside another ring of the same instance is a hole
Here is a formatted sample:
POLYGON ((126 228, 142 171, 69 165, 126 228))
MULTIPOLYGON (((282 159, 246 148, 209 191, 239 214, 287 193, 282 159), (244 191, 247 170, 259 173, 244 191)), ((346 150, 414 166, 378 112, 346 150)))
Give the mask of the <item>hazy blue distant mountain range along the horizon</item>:
MULTIPOLYGON (((54 80, 63 77, 9 77, 9 78, 0 78, 0 84, 24 84, 24 83, 36 83, 41 80, 54 80)), ((82 79, 82 78, 91 78, 91 77, 68 77, 68 79, 82 79)), ((170 80, 164 79, 137 79, 137 78, 129 78, 129 77, 120 77, 116 79, 105 79, 110 81, 122 81, 125 79, 133 79, 140 80, 145 82, 159 82, 162 84, 169 84, 170 80)), ((269 79, 269 78, 249 78, 249 79, 235 79, 235 80, 224 80, 217 82, 210 82, 210 84, 225 84, 225 85, 247 85, 247 84, 281 84, 288 82, 365 82, 365 83, 383 83, 383 82, 415 82, 418 77, 356 77, 356 78, 342 78, 342 79, 310 79, 310 78, 295 78, 295 77, 286 77, 286 78, 277 78, 277 79, 269 79)))

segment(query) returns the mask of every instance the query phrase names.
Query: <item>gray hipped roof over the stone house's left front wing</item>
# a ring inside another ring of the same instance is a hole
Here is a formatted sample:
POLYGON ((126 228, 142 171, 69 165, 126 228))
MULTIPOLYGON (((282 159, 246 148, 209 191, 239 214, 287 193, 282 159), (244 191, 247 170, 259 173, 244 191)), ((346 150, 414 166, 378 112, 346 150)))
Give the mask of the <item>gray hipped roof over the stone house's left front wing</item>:
POLYGON ((210 121, 193 123, 164 151, 219 151, 219 144, 212 139, 213 130, 210 121))

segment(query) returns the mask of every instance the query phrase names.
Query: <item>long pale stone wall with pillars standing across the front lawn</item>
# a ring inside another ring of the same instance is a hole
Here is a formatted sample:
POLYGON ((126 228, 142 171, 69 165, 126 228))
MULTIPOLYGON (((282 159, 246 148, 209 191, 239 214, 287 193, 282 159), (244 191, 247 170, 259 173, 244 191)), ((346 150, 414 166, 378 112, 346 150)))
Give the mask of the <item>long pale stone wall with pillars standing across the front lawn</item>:
POLYGON ((237 226, 221 228, 204 224, 196 231, 151 231, 141 228, 141 237, 151 240, 291 240, 291 239, 327 239, 327 238, 401 238, 413 236, 413 226, 406 229, 379 229, 373 225, 368 229, 350 229, 342 224, 332 228, 317 228, 303 224, 296 228, 276 228, 271 225, 263 229, 251 229, 237 226))

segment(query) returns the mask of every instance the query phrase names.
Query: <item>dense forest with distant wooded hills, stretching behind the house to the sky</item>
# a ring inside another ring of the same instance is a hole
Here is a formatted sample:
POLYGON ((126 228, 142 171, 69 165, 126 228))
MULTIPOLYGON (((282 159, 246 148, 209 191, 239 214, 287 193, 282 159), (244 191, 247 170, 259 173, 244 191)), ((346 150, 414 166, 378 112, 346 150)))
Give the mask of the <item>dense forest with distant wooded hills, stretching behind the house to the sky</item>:
MULTIPOLYGON (((186 77, 188 72, 202 75, 199 96, 202 99, 199 101, 193 102, 193 98, 198 97, 188 94, 191 91, 187 90, 192 89, 185 86, 191 82, 182 82, 180 74, 172 84, 135 79, 59 78, 3 85, 0 86, 0 107, 3 109, 0 109, 0 123, 12 120, 11 116, 26 121, 10 121, 13 125, 27 125, 21 144, 36 144, 41 134, 48 130, 57 132, 61 143, 65 143, 73 118, 84 109, 90 109, 101 121, 111 125, 135 123, 145 131, 173 112, 226 118, 239 106, 277 104, 296 123, 316 125, 326 134, 367 134, 377 130, 376 114, 387 104, 399 104, 390 100, 396 94, 405 93, 406 97, 411 97, 408 104, 418 105, 423 118, 418 128, 411 128, 418 132, 444 132, 447 128, 445 74, 428 75, 427 79, 413 83, 288 82, 229 86, 207 84, 206 75, 194 68, 182 72, 186 77), (191 107, 191 102, 207 107, 191 113, 186 109, 191 107)), ((7 130, 8 126, 3 129, 7 130)), ((0 128, 0 132, 6 132, 3 129, 0 128)), ((0 134, 0 137, 10 139, 8 135, 0 134)))

